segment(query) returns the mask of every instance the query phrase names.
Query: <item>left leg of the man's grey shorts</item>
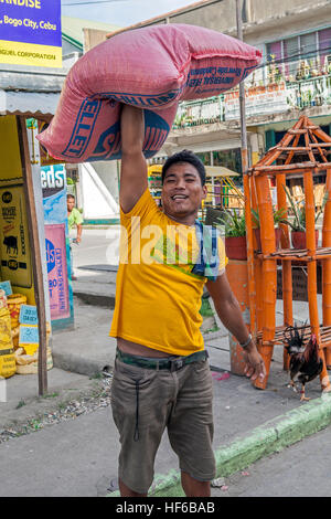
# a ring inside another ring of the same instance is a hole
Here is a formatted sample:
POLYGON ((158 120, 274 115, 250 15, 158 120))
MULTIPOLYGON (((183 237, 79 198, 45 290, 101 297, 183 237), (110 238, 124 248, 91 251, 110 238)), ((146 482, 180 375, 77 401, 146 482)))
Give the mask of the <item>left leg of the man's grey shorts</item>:
POLYGON ((121 444, 119 477, 139 494, 146 494, 153 479, 154 457, 171 409, 170 374, 116 360, 111 409, 121 444))

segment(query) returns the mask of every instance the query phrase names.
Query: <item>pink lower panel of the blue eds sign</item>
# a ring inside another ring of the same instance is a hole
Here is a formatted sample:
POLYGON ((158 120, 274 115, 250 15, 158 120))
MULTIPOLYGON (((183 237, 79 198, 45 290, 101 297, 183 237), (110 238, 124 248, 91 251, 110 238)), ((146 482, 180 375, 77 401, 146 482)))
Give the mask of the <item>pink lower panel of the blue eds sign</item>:
POLYGON ((65 225, 45 225, 50 308, 52 321, 71 317, 65 225))

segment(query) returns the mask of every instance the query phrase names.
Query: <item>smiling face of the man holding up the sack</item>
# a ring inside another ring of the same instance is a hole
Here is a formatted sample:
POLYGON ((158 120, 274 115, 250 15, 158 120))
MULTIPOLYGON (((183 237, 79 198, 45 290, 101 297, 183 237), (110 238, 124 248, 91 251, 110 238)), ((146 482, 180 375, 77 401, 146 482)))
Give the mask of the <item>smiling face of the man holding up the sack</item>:
POLYGON ((175 162, 166 172, 162 206, 171 219, 193 225, 201 202, 206 198, 197 170, 190 162, 175 162))

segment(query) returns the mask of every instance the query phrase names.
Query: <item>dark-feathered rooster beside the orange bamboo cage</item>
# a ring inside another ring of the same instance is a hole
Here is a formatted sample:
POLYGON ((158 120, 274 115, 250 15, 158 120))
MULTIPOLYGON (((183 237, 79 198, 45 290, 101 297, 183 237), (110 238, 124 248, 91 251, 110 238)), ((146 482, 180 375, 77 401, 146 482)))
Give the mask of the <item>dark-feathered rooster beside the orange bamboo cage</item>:
POLYGON ((297 391, 293 379, 298 374, 298 380, 301 382, 300 401, 310 400, 305 394, 306 383, 316 379, 323 369, 323 361, 319 357, 319 346, 316 335, 311 335, 305 348, 303 332, 305 328, 301 333, 299 333, 297 326, 288 327, 285 332, 285 341, 287 343, 285 348, 290 356, 289 367, 291 380, 289 385, 297 391))

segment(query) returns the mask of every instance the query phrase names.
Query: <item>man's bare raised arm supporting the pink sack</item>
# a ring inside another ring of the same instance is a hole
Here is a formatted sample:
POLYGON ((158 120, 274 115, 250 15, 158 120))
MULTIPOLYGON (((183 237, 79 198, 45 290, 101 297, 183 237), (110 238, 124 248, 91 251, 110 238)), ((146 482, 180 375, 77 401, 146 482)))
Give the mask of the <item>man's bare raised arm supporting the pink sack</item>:
POLYGON ((128 213, 148 187, 147 162, 142 153, 145 139, 143 110, 134 106, 122 105, 120 133, 119 203, 122 211, 128 213))

